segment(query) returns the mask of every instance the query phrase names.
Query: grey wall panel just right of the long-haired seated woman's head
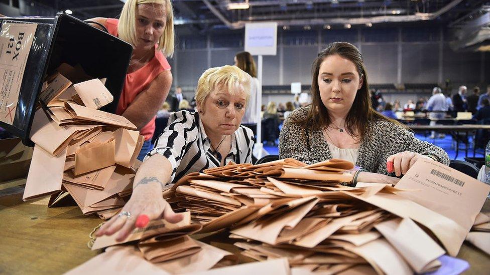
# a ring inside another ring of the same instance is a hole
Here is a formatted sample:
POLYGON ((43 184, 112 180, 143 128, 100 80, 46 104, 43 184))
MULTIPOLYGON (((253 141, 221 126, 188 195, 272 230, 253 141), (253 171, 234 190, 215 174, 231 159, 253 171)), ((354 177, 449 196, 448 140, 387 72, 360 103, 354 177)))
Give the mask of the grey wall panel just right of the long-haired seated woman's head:
POLYGON ((396 83, 398 68, 398 45, 362 45, 364 66, 369 83, 396 83))

